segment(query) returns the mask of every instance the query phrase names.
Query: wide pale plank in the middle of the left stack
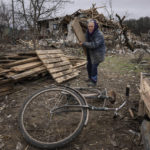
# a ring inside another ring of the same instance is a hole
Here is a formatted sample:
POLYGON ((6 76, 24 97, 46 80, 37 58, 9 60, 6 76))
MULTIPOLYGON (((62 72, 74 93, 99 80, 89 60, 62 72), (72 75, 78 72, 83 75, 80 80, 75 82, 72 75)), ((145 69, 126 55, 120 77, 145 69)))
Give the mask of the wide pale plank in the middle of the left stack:
POLYGON ((32 62, 32 63, 27 63, 27 64, 12 67, 11 70, 15 72, 20 72, 20 71, 25 71, 28 69, 35 68, 40 65, 42 65, 42 62, 32 62))

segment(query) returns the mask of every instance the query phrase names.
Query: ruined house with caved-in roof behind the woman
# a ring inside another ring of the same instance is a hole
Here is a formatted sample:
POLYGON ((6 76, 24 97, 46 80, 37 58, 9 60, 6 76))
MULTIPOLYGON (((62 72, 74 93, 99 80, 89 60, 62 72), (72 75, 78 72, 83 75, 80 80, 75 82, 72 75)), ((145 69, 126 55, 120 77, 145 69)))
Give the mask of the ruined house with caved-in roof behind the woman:
POLYGON ((51 39, 53 41, 61 41, 62 43, 78 43, 78 39, 72 29, 72 23, 75 18, 78 19, 83 33, 87 30, 87 21, 95 19, 102 31, 107 48, 114 47, 121 49, 124 46, 132 49, 130 44, 132 35, 128 33, 127 28, 122 24, 124 18, 118 18, 119 21, 107 19, 103 14, 98 12, 98 8, 93 5, 87 10, 77 10, 71 15, 64 17, 57 17, 51 19, 44 19, 38 21, 40 37, 44 39, 51 39))

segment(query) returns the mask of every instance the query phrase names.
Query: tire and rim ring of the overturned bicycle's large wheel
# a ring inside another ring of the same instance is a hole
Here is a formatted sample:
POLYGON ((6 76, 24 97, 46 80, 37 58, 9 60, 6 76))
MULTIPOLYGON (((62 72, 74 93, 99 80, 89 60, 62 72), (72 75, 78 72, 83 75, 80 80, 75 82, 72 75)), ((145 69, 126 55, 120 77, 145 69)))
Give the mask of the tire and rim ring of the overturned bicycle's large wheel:
POLYGON ((47 91, 57 90, 57 89, 68 92, 71 95, 73 95, 76 98, 76 100, 80 103, 80 105, 86 105, 86 102, 83 99, 83 97, 80 95, 80 93, 76 92, 75 90, 73 90, 69 87, 63 87, 63 86, 57 86, 57 87, 53 86, 53 87, 45 88, 45 89, 42 89, 42 90, 36 92, 32 96, 30 96, 25 101, 25 103, 23 104, 23 107, 21 108, 21 111, 19 114, 19 127, 20 127, 21 133, 23 134, 23 137, 25 138, 25 140, 35 147, 46 148, 46 149, 54 149, 54 148, 58 148, 58 147, 63 147, 67 143, 71 142, 75 137, 77 137, 84 127, 85 121, 87 119, 87 108, 82 107, 82 108, 80 108, 82 111, 82 117, 81 117, 80 123, 77 126, 77 128, 74 130, 74 132, 72 134, 70 134, 69 136, 67 136, 59 141, 51 142, 51 143, 44 142, 44 141, 41 142, 41 141, 33 138, 28 133, 28 131, 25 128, 25 124, 24 124, 24 112, 25 112, 26 108, 28 108, 28 105, 31 103, 31 101, 39 94, 41 94, 43 92, 47 92, 47 91))

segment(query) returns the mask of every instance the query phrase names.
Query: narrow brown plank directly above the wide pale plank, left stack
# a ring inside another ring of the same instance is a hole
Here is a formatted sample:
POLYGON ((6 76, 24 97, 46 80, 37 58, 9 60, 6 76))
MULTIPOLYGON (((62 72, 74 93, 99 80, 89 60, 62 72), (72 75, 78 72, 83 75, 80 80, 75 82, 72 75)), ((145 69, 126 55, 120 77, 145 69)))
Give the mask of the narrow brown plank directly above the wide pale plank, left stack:
POLYGON ((6 64, 4 67, 12 67, 12 66, 15 66, 15 65, 25 64, 25 63, 29 63, 29 62, 33 62, 33 61, 37 61, 37 60, 39 60, 38 57, 31 57, 31 58, 18 60, 18 61, 15 61, 13 63, 6 64))

